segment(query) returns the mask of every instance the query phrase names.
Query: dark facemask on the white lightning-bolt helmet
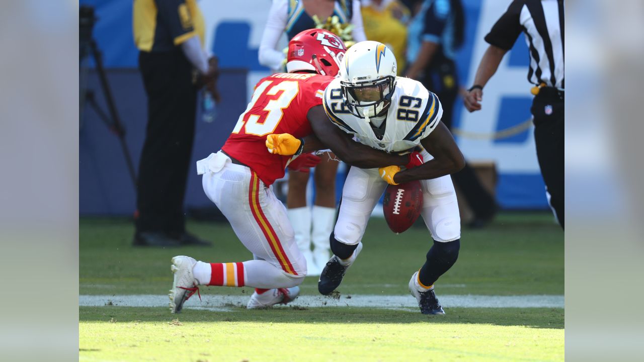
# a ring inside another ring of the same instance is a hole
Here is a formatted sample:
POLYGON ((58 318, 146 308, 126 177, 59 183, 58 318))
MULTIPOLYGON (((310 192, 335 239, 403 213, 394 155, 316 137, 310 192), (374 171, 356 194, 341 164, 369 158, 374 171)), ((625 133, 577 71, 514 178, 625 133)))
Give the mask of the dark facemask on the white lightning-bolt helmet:
POLYGON ((370 118, 379 117, 389 110, 395 77, 388 75, 376 81, 355 83, 340 81, 340 85, 345 104, 352 115, 370 122, 370 118))

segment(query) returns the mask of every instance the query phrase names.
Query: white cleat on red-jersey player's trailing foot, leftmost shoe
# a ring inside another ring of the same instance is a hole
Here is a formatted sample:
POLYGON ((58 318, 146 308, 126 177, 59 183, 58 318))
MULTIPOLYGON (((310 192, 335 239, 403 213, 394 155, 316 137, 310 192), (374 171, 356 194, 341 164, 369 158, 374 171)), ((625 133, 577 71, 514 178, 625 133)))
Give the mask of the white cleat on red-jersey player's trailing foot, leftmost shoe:
MULTIPOLYGON (((170 290, 170 311, 180 313, 184 307, 184 302, 188 300, 195 292, 199 292, 199 283, 194 279, 193 267, 196 260, 189 256, 175 256, 172 258, 170 270, 175 274, 170 290)), ((201 299, 201 296, 199 296, 201 299)))

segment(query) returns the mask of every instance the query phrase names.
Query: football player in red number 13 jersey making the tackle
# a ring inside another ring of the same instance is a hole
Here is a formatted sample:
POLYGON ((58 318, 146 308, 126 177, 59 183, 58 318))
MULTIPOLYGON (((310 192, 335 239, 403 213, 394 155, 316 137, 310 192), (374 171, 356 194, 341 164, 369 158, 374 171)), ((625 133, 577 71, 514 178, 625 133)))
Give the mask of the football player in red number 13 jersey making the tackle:
POLYGON ((175 256, 169 294, 172 312, 180 312, 185 300, 198 291, 198 285, 254 287, 249 309, 287 303, 298 296, 298 285, 307 275, 307 261, 294 240, 284 205, 269 186, 284 176, 287 166, 314 166, 316 157, 307 152, 330 148, 357 167, 409 162, 408 156, 389 155, 358 144, 332 126, 321 105, 322 97, 337 74, 344 52, 341 39, 325 30, 296 35, 289 43, 290 73, 261 79, 222 149, 197 162, 198 173, 204 175, 205 194, 226 216, 255 260, 204 263, 175 256), (319 140, 311 137, 305 144, 303 137, 312 132, 319 140), (281 141, 272 133, 290 133, 297 138, 281 141), (271 154, 267 148, 271 153, 299 156, 271 154))

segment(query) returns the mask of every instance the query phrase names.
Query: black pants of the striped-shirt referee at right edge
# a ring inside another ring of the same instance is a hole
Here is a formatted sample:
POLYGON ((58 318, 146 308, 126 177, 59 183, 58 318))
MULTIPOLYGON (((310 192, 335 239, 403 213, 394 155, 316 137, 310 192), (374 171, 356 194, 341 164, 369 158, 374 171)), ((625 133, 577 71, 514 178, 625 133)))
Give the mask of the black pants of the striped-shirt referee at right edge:
POLYGON ((530 111, 535 117, 536 157, 548 201, 564 228, 564 92, 541 88, 530 111))

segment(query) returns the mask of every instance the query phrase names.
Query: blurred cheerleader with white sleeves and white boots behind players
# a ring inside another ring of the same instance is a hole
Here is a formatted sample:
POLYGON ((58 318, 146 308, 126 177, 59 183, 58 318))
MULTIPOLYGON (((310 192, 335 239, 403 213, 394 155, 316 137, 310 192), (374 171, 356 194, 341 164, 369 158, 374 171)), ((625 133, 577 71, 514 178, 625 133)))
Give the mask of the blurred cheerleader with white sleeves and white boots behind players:
MULTIPOLYGON (((352 35, 356 41, 366 40, 357 0, 274 0, 261 37, 260 64, 281 71, 285 55, 275 49, 279 38, 286 33, 290 40, 303 30, 315 28, 313 15, 317 15, 321 21, 335 15, 340 23, 354 26, 352 35)), ((332 155, 325 155, 317 164, 314 172, 316 196, 312 208, 307 205, 309 173, 289 172, 289 220, 295 229, 299 249, 307 259, 308 274, 311 276, 319 275, 330 256, 328 234, 336 219, 338 164, 332 155), (311 242, 315 245, 314 251, 311 251, 311 242)))

